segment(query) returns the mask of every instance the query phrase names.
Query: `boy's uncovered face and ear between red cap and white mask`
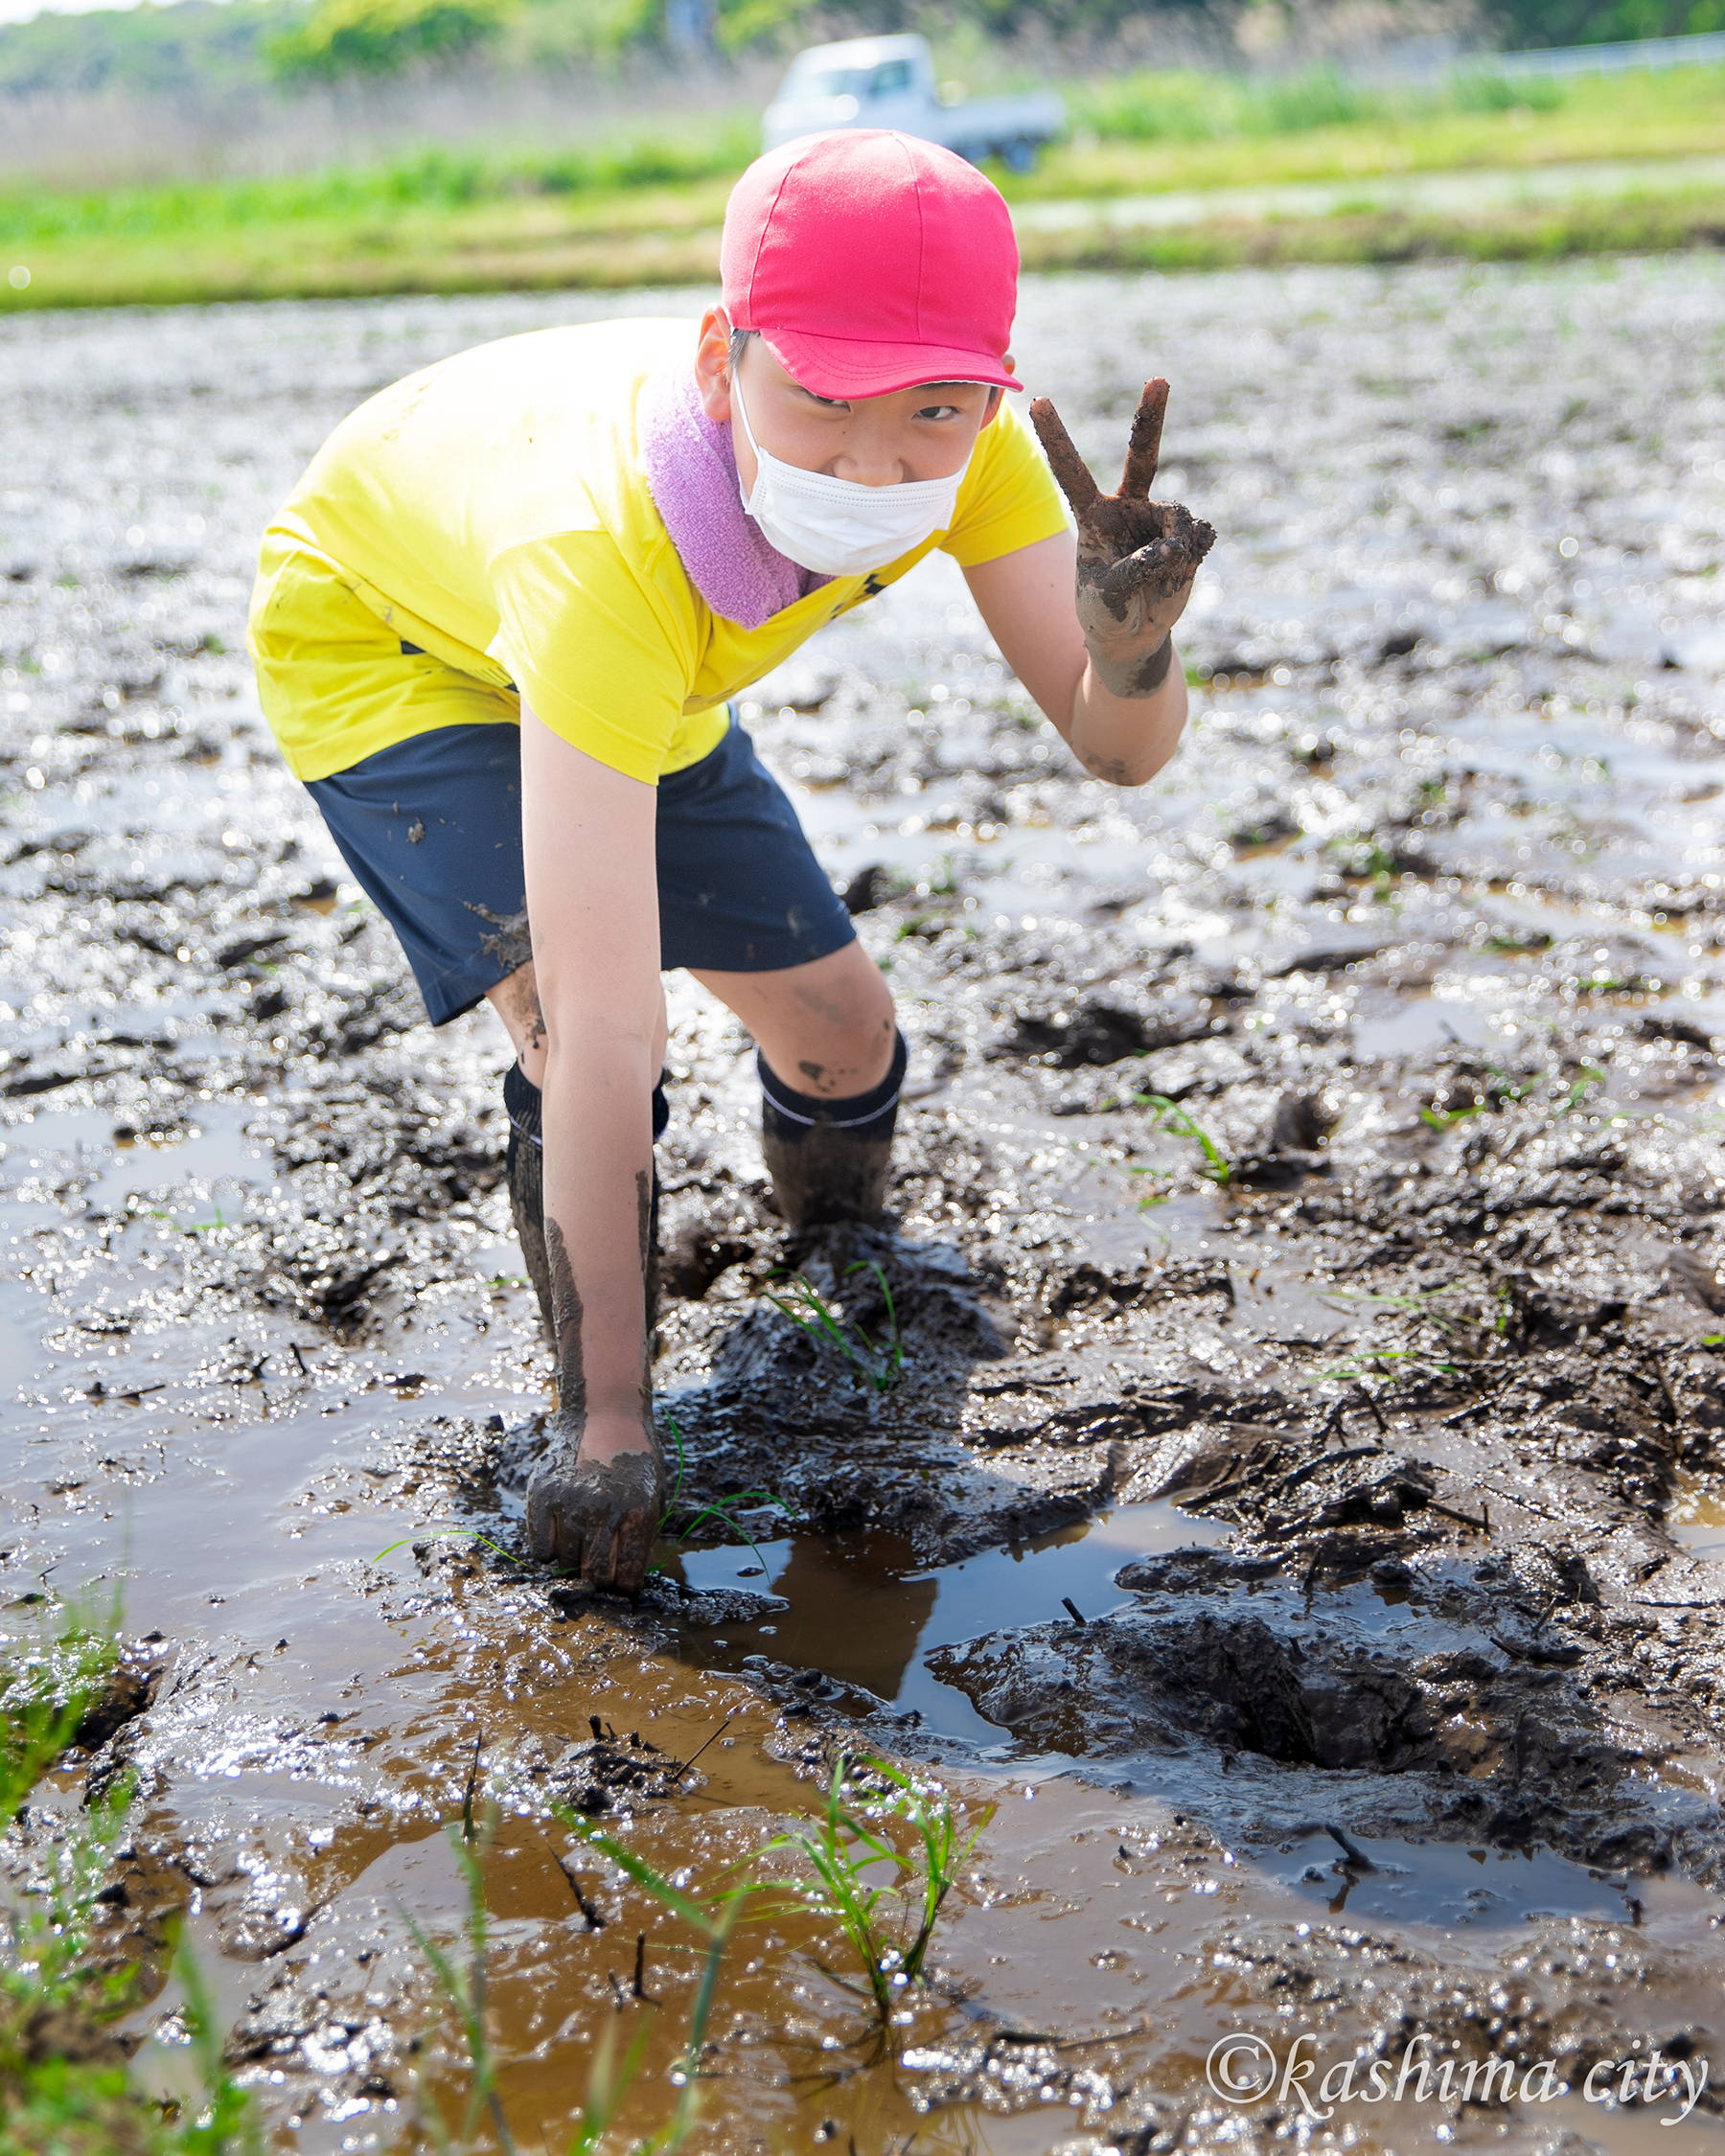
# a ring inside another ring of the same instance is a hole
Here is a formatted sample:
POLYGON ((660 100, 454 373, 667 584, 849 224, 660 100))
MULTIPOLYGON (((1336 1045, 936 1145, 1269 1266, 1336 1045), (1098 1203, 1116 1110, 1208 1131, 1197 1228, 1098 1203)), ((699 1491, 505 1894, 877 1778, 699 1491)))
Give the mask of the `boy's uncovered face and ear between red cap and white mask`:
MULTIPOLYGON (((750 494, 757 464, 731 397, 729 338, 729 317, 712 308, 701 323, 694 373, 707 418, 731 427, 737 479, 750 494)), ((815 397, 785 373, 761 336, 748 338, 737 373, 761 448, 804 472, 854 479, 865 487, 962 472, 977 436, 1000 405, 1000 390, 981 382, 929 382, 888 397, 815 397)))

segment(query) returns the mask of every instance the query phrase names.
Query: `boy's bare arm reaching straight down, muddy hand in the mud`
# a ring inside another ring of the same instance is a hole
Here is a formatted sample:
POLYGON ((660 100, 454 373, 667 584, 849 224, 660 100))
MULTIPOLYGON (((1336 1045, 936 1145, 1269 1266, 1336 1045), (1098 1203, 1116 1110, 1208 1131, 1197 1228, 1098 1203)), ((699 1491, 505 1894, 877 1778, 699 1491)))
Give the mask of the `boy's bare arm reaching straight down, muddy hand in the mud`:
POLYGON ((546 1024, 546 1255, 558 1412, 528 1488, 537 1557, 634 1593, 658 1526, 645 1285, 664 1052, 658 796, 522 705, 522 841, 546 1024))

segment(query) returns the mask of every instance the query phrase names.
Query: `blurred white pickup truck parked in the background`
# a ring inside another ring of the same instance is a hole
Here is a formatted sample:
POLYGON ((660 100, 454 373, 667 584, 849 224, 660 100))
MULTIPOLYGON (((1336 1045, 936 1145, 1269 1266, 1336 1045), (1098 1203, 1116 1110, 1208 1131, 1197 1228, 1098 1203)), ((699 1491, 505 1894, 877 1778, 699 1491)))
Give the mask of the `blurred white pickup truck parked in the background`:
POLYGON ((778 149, 804 134, 834 127, 897 127, 979 164, 998 157, 1029 172, 1037 151, 1065 127, 1065 106, 1052 91, 1020 97, 966 97, 934 80, 925 37, 850 37, 811 45, 765 110, 761 147, 778 149))

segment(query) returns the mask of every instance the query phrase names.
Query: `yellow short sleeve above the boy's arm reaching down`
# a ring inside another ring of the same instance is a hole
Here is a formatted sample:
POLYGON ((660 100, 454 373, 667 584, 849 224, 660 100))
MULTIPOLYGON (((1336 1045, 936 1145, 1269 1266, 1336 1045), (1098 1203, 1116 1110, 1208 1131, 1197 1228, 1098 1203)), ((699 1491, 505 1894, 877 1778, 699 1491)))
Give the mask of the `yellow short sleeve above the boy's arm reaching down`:
MULTIPOLYGON (((658 785, 699 666, 681 578, 656 580, 608 533, 533 539, 492 561, 500 658, 565 742, 658 785)), ((686 591, 686 584, 684 584, 686 591)))

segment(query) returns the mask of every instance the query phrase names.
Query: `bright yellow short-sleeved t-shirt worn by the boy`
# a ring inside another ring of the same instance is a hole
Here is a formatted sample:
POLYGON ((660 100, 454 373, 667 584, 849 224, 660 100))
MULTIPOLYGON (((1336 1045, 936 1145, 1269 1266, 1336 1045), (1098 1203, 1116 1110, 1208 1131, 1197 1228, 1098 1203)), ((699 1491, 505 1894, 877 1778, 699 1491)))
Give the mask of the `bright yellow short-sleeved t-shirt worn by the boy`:
POLYGON ((567 742, 656 783, 720 742, 727 699, 932 548, 972 567, 1065 528, 1031 431, 1003 407, 951 530, 759 630, 724 621, 671 543, 636 433, 647 377, 679 356, 692 364, 688 321, 535 330, 427 367, 336 427, 270 524, 252 597, 263 705, 300 778, 451 722, 399 690, 341 694, 343 651, 358 664, 371 642, 354 599, 388 632, 380 649, 418 645, 472 681, 459 718, 518 720, 526 696, 567 742), (336 602, 328 632, 319 589, 336 602))

